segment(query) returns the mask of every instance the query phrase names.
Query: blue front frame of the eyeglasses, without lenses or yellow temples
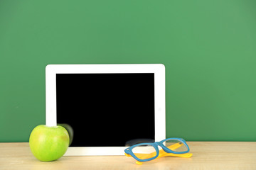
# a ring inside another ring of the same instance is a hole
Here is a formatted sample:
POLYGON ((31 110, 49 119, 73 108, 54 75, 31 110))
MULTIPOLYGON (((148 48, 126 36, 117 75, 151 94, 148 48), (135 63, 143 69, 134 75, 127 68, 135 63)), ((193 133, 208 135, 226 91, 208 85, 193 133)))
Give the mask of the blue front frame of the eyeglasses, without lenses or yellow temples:
POLYGON ((137 144, 137 145, 133 145, 132 147, 128 147, 127 149, 124 149, 124 152, 126 154, 129 154, 131 155, 132 157, 134 157, 134 159, 136 159, 137 161, 139 162, 148 162, 148 161, 151 161, 153 159, 156 159, 157 157, 159 157, 159 148, 158 146, 160 146, 162 149, 164 149, 164 152, 167 152, 167 153, 173 153, 173 154, 185 154, 185 153, 188 153, 189 152, 189 147, 188 145, 186 144, 186 141, 183 140, 182 138, 178 138, 178 137, 171 137, 171 138, 168 138, 168 139, 165 139, 165 140, 161 140, 160 142, 154 142, 154 143, 140 143, 140 144, 137 144), (171 149, 169 149, 168 147, 164 146, 164 142, 166 142, 167 140, 178 140, 179 142, 181 142, 183 145, 185 145, 188 150, 187 151, 183 151, 183 152, 176 152, 176 151, 173 151, 171 149), (156 149, 156 156, 154 157, 151 157, 149 159, 139 159, 138 157, 135 156, 135 154, 132 152, 132 149, 134 147, 139 147, 139 146, 142 146, 142 145, 149 145, 149 146, 152 146, 154 147, 154 149, 156 149))

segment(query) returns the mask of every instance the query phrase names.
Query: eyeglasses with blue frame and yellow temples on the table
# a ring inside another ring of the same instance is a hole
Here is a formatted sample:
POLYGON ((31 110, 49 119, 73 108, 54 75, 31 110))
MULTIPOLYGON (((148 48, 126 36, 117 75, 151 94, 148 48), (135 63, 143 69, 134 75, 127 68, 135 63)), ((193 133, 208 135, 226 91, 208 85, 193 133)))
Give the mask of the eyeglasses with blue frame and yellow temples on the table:
POLYGON ((128 147, 124 152, 127 157, 134 157, 137 160, 136 164, 142 164, 142 162, 166 156, 192 157, 192 154, 188 153, 189 147, 186 141, 177 137, 154 143, 140 143, 128 147), (160 151, 159 146, 162 148, 160 151))

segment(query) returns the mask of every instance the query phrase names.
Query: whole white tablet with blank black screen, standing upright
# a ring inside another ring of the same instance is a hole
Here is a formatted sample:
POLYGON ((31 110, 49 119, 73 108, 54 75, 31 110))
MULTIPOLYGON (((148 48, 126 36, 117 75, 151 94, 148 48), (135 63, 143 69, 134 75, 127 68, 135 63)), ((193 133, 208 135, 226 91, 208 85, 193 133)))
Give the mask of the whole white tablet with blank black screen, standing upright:
POLYGON ((166 137, 163 64, 49 64, 46 125, 68 124, 65 156, 124 155, 166 137))

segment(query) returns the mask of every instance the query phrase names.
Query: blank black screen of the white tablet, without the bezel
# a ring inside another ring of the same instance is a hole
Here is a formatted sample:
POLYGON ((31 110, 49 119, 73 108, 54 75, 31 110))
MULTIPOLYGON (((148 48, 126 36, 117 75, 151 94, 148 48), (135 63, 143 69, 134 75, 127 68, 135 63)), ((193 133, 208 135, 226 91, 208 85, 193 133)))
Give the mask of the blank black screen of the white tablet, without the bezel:
POLYGON ((154 73, 57 74, 56 84, 57 123, 73 128, 70 147, 154 140, 154 73))

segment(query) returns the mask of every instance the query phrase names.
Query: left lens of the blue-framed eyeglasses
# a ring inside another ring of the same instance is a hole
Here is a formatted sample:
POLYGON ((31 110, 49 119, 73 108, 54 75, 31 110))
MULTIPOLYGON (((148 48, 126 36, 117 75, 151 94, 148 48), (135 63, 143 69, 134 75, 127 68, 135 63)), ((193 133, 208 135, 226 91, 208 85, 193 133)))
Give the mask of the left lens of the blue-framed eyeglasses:
POLYGON ((134 147, 132 152, 139 159, 149 159, 156 156, 156 149, 151 145, 134 147))

